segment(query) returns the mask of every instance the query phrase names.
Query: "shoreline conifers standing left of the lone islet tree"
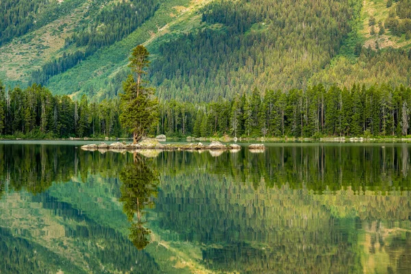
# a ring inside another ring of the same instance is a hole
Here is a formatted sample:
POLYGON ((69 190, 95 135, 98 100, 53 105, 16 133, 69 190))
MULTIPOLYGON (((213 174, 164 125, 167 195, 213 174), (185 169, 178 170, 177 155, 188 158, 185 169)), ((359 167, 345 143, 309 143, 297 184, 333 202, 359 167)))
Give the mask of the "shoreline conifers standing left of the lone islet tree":
POLYGON ((78 103, 70 97, 53 96, 33 84, 14 88, 5 97, 0 88, 0 135, 17 138, 68 138, 121 136, 119 102, 88 104, 86 96, 78 103))

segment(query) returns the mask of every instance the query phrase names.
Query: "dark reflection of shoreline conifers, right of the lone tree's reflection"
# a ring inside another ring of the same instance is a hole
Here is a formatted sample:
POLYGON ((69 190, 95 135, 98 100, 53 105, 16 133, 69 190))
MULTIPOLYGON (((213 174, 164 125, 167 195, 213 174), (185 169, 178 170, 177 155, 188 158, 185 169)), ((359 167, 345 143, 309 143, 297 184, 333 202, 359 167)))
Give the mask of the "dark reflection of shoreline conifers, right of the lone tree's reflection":
POLYGON ((157 158, 162 174, 197 169, 229 175, 258 188, 287 185, 317 192, 340 190, 408 190, 411 187, 410 144, 282 144, 263 153, 242 149, 213 157, 207 151, 164 152, 157 158))

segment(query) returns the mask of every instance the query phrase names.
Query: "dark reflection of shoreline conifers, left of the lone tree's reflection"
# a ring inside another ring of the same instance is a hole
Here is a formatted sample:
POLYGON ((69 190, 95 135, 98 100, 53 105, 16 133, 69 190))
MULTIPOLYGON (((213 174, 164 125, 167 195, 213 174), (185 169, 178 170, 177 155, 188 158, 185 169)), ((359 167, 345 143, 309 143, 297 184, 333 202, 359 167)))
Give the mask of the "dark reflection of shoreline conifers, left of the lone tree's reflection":
MULTIPOLYGON (((132 155, 82 151, 73 145, 0 145, 0 191, 44 192, 53 182, 118 177, 132 155)), ((1 192, 0 192, 1 195, 1 192)))

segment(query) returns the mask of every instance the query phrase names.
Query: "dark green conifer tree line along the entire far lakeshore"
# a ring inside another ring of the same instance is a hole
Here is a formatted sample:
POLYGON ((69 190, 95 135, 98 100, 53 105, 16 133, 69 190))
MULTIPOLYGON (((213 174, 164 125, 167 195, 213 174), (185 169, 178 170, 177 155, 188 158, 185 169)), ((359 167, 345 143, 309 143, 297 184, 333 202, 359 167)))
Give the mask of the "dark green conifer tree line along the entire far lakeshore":
MULTIPOLYGON (((129 79, 125 87, 133 84, 129 79)), ((90 102, 52 95, 38 84, 6 92, 0 84, 0 134, 26 138, 129 136, 121 126, 120 99, 90 102)), ((138 110, 135 110, 138 112, 138 110)), ((158 119, 144 132, 170 137, 321 137, 408 136, 411 134, 411 89, 387 84, 322 84, 306 90, 266 90, 210 103, 162 101, 151 110, 158 119), (156 124, 156 125, 155 125, 156 124)), ((129 112, 124 117, 137 115, 129 112)), ((130 118, 130 117, 129 117, 130 118)), ((131 119, 131 118, 130 118, 131 119)), ((124 124, 125 125, 125 124, 124 124)), ((134 128, 134 127, 133 127, 134 128)))

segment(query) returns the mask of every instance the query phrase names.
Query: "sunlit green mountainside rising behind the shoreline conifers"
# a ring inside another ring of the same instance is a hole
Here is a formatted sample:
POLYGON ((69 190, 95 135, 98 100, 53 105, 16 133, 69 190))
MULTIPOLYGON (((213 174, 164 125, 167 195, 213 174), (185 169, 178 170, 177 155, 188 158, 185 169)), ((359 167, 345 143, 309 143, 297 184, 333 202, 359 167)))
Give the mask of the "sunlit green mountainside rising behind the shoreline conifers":
POLYGON ((162 99, 214 101, 257 87, 409 85, 408 0, 2 1, 0 79, 103 99, 144 44, 162 99), (4 8, 3 8, 4 7, 4 8))

